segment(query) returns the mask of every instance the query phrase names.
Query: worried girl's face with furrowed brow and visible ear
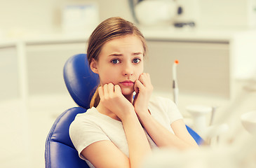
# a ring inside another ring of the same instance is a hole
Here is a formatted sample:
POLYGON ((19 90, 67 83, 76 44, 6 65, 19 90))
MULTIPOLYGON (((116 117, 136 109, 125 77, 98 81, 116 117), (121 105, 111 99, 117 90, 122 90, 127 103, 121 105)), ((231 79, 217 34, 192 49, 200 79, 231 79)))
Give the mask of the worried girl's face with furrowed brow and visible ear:
POLYGON ((133 94, 134 83, 144 69, 143 45, 140 38, 127 35, 114 38, 102 46, 97 61, 90 67, 100 76, 100 85, 113 83, 121 87, 123 95, 133 94))

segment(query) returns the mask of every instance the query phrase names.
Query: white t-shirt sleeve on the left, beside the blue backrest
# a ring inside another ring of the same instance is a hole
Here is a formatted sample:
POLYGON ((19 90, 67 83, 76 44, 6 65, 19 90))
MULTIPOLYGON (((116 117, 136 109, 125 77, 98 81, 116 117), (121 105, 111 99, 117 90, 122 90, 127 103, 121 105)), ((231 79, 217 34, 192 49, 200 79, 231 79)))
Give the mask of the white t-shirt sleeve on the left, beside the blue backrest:
POLYGON ((109 137, 101 130, 99 126, 84 117, 76 116, 75 120, 69 126, 69 136, 83 160, 86 158, 81 155, 84 148, 97 141, 109 140, 109 137))

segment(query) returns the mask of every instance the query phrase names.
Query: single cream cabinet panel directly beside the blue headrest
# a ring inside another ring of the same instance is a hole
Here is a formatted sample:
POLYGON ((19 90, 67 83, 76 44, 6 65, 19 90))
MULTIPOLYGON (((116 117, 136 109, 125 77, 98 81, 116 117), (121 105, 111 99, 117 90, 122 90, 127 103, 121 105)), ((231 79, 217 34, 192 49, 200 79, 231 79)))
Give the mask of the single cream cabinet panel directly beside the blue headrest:
POLYGON ((26 46, 28 94, 67 92, 63 66, 72 55, 86 53, 86 42, 28 43, 26 46))

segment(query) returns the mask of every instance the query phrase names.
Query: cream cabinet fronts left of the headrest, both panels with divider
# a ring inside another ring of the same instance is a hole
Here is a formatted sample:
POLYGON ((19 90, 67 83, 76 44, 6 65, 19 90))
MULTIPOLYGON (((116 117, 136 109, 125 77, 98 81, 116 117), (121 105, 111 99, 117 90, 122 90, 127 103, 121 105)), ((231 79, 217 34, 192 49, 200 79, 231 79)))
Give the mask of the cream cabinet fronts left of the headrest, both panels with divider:
POLYGON ((63 66, 86 53, 85 38, 17 40, 0 43, 0 101, 30 96, 67 95, 63 66))

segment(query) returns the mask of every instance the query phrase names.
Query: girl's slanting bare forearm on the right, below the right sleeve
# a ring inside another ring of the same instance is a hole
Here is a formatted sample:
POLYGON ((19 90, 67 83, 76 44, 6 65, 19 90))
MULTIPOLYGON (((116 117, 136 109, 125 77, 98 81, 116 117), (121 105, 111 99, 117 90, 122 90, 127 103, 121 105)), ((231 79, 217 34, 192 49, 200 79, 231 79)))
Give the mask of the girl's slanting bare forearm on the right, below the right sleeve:
POLYGON ((140 115, 140 123, 142 123, 147 133, 159 147, 175 147, 179 149, 186 149, 197 147, 194 141, 180 139, 175 134, 171 133, 166 127, 163 127, 157 120, 155 120, 149 113, 142 113, 140 115))

